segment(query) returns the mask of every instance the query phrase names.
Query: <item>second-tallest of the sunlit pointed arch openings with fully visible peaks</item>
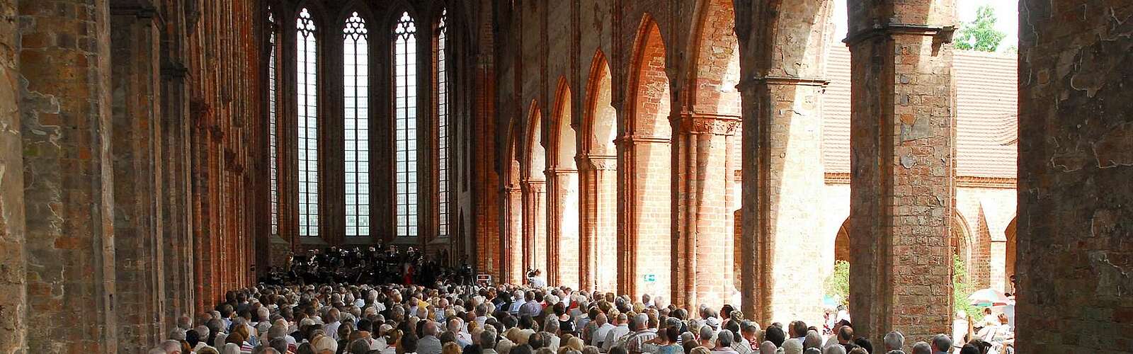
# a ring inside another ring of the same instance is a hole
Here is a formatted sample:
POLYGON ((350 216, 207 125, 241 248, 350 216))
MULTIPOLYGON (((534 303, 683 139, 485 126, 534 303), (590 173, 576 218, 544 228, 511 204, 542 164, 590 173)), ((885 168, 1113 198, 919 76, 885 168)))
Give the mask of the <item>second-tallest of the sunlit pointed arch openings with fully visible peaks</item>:
POLYGON ((582 185, 580 264, 582 288, 614 289, 617 283, 617 112, 610 65, 595 54, 587 83, 582 151, 577 157, 582 185))

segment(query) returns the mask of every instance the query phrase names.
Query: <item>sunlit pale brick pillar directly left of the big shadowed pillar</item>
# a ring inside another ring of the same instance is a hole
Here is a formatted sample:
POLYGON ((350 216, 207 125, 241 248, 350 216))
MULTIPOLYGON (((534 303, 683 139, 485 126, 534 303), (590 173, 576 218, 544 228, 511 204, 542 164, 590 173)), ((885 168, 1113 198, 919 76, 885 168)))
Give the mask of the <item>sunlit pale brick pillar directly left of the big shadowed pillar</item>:
POLYGON ((821 161, 819 96, 826 82, 751 77, 740 84, 743 129, 743 227, 740 287, 744 313, 763 322, 821 320, 821 161), (747 251, 744 251, 747 250, 747 251))

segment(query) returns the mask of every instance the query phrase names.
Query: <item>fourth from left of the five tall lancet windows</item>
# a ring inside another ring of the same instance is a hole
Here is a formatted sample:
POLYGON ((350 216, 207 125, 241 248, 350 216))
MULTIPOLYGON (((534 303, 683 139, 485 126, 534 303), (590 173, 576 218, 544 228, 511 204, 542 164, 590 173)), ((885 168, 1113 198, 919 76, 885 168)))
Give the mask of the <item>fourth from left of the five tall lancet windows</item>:
POLYGON ((393 27, 397 235, 417 236, 417 26, 402 12, 393 27))

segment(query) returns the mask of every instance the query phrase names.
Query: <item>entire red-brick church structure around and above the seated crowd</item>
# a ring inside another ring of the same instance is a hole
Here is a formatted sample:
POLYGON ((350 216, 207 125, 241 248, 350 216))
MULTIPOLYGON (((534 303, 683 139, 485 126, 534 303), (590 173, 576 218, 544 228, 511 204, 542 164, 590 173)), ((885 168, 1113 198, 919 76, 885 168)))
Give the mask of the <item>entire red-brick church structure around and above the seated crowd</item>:
POLYGON ((1133 5, 1022 0, 1003 57, 954 1, 0 0, 0 353, 378 243, 765 323, 846 260, 918 340, 960 255, 1021 353, 1127 348, 1133 5))

